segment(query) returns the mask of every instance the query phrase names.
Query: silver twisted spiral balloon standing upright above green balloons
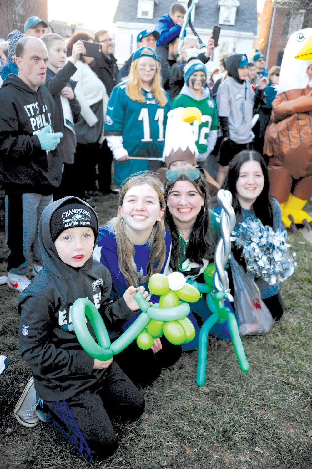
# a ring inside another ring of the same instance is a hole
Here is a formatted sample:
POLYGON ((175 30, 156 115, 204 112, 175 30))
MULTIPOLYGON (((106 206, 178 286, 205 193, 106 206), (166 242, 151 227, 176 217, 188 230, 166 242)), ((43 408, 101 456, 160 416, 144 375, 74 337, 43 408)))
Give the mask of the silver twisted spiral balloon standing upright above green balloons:
POLYGON ((230 293, 230 289, 228 288, 228 275, 224 270, 224 267, 230 257, 230 235, 235 227, 236 215, 232 207, 232 194, 229 190, 220 189, 217 195, 217 199, 222 207, 222 210, 220 215, 221 238, 216 245, 214 257, 214 285, 216 290, 222 291, 225 298, 232 302, 234 299, 230 293))

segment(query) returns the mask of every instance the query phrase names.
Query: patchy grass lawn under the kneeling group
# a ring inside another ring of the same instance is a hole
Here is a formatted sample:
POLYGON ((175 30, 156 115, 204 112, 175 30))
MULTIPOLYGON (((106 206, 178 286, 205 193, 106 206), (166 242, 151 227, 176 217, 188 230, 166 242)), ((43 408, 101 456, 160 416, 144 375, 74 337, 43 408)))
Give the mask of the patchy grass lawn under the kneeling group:
MULTIPOLYGON (((114 195, 94 200, 101 224, 117 203, 114 195)), ((3 192, 0 226, 5 272, 3 192)), ((143 390, 144 415, 118 428, 118 451, 98 464, 85 462, 47 425, 28 429, 15 420, 31 372, 19 355, 18 293, 0 286, 0 353, 10 360, 0 376, 0 469, 312 469, 312 249, 300 233, 290 242, 298 267, 280 287, 285 313, 267 336, 243 338, 249 373, 240 371, 231 342, 212 338, 199 388, 197 353, 184 353, 143 390)))

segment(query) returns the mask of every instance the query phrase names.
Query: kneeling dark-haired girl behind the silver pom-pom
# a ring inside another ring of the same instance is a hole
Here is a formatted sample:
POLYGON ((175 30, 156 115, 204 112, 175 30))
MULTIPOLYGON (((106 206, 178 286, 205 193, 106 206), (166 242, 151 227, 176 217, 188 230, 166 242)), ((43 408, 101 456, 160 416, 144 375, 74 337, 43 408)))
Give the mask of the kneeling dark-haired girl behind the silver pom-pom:
MULTIPOLYGON (((269 195, 270 182, 267 165, 257 151, 240 151, 229 164, 228 174, 222 189, 232 194, 232 205, 236 213, 236 227, 242 221, 259 219, 263 226, 270 226, 277 231, 282 228, 280 204, 269 195)), ((215 209, 221 213, 221 207, 215 209)), ((241 259, 241 249, 234 248, 232 253, 239 264, 246 268, 245 258, 241 259)), ((261 299, 267 305, 275 321, 283 314, 284 308, 278 285, 270 285, 260 278, 256 279, 261 299)))

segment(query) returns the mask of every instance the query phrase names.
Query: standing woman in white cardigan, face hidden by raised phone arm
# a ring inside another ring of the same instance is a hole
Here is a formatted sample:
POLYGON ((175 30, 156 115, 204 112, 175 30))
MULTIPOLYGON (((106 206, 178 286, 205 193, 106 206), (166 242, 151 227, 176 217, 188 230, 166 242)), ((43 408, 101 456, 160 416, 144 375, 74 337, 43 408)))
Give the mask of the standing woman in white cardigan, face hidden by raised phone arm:
MULTIPOLYGON (((80 40, 94 42, 87 32, 74 33, 67 41, 67 60, 72 54, 73 45, 80 40)), ((104 117, 108 103, 105 86, 91 68, 93 62, 93 57, 81 55, 75 63, 77 71, 72 76, 72 80, 77 82, 75 96, 81 106, 81 115, 75 123, 77 147, 72 165, 72 187, 67 188, 67 193, 88 200, 88 194, 97 190, 97 161, 100 157, 104 158, 101 144, 104 142, 104 117)))

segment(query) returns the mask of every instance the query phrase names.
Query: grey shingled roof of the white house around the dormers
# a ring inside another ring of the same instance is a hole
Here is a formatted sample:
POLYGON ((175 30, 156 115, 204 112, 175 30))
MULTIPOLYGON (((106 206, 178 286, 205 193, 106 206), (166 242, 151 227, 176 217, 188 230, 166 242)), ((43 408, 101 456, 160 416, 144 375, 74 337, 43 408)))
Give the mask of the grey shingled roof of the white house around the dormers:
MULTIPOLYGON (((234 26, 221 24, 223 30, 236 30, 257 34, 257 0, 239 0, 240 6, 237 9, 234 26)), ((155 2, 154 17, 151 20, 137 18, 137 0, 119 0, 114 16, 114 23, 152 23, 156 24, 160 16, 169 13, 173 0, 158 0, 155 2)), ((194 28, 212 30, 218 24, 219 19, 218 0, 199 0, 196 4, 194 28)))

